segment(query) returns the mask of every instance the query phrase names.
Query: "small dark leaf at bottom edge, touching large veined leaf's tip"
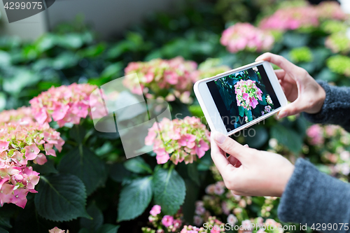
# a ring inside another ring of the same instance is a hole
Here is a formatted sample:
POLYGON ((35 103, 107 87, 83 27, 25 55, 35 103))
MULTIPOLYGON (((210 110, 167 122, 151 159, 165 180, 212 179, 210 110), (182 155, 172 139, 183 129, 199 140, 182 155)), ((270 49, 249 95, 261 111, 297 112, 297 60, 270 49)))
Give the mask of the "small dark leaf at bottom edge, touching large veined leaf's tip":
POLYGON ((86 211, 92 219, 80 218, 80 227, 85 227, 90 232, 95 232, 104 223, 104 215, 96 204, 90 204, 86 211))

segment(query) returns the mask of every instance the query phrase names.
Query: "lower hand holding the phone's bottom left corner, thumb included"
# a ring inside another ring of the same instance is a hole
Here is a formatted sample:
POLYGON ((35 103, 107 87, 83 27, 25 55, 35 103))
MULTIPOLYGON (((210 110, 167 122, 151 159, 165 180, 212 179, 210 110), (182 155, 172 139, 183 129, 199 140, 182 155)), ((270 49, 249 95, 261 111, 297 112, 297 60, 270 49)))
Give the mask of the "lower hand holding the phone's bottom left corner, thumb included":
POLYGON ((211 158, 235 195, 281 197, 294 171, 281 155, 241 146, 219 132, 211 136, 211 158))

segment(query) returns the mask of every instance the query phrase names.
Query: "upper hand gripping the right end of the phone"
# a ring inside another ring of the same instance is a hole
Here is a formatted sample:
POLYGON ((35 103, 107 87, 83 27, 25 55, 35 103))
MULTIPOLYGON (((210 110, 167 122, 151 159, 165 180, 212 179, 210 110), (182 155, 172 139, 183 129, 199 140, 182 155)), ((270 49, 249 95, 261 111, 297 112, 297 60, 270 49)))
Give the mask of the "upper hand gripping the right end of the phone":
POLYGON ((276 70, 276 76, 283 88, 284 94, 291 103, 279 111, 279 118, 297 113, 318 113, 325 101, 325 90, 312 78, 307 71, 295 66, 286 58, 266 52, 255 61, 265 60, 281 69, 276 70))

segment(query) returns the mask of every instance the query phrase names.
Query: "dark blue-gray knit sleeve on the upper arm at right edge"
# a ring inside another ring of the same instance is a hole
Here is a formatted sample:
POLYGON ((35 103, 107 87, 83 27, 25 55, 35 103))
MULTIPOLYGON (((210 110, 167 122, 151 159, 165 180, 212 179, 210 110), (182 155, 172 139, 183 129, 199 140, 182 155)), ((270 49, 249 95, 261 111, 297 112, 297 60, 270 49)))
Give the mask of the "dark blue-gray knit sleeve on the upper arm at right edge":
POLYGON ((316 114, 304 113, 314 123, 340 125, 350 132, 350 87, 335 87, 324 81, 318 83, 325 90, 325 101, 316 114))

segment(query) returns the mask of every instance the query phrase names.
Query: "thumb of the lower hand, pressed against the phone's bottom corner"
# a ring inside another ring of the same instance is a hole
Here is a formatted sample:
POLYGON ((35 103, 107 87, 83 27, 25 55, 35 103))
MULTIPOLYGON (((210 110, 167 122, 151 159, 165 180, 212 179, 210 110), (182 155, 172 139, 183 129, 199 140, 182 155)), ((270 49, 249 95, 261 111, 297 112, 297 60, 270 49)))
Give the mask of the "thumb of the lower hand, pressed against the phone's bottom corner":
POLYGON ((218 144, 218 146, 233 157, 237 158, 240 162, 244 162, 249 157, 250 148, 246 146, 242 146, 237 143, 237 141, 231 139, 220 132, 214 132, 214 140, 218 144))

